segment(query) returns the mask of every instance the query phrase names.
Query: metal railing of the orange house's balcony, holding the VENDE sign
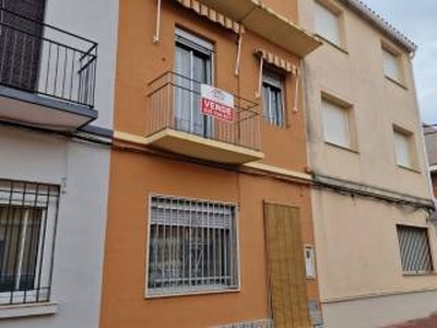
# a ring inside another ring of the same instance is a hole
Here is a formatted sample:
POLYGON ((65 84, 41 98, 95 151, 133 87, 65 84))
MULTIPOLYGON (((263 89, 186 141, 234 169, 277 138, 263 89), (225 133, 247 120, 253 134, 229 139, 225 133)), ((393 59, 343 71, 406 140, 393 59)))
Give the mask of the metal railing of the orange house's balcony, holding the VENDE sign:
POLYGON ((188 132, 252 150, 260 150, 260 114, 257 103, 234 95, 232 119, 201 113, 201 82, 165 72, 150 82, 147 136, 165 128, 188 132))

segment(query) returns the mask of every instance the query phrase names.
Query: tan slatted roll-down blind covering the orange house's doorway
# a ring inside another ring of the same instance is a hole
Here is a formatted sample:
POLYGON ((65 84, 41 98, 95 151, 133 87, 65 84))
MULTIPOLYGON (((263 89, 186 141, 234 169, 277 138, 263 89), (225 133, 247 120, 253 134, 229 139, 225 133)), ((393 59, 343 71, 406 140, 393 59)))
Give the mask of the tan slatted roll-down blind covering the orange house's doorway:
POLYGON ((275 328, 310 328, 297 208, 264 203, 270 293, 275 328))

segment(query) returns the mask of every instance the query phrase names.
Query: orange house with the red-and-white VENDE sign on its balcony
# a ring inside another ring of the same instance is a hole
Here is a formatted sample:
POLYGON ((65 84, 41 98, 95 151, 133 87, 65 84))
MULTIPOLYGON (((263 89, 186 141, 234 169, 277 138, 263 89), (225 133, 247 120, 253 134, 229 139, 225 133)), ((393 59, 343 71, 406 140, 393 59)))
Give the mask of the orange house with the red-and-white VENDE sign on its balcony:
POLYGON ((321 323, 297 83, 320 43, 265 4, 120 1, 101 327, 321 323))

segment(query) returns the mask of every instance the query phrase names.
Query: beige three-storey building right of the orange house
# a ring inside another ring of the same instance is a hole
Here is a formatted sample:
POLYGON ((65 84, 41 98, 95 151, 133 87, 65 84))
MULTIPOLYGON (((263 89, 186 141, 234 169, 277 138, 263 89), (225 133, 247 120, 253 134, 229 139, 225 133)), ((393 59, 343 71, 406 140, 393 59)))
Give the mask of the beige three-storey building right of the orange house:
POLYGON ((437 238, 412 58, 359 1, 300 0, 324 45, 304 60, 312 214, 327 328, 437 311, 437 238))

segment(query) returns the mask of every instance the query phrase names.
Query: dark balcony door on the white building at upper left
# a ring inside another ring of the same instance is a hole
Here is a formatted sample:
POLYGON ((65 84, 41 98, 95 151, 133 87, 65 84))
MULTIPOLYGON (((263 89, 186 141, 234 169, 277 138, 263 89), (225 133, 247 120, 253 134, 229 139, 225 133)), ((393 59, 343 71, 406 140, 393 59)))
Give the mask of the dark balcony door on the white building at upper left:
POLYGON ((35 90, 45 7, 46 0, 0 0, 0 84, 35 90))

